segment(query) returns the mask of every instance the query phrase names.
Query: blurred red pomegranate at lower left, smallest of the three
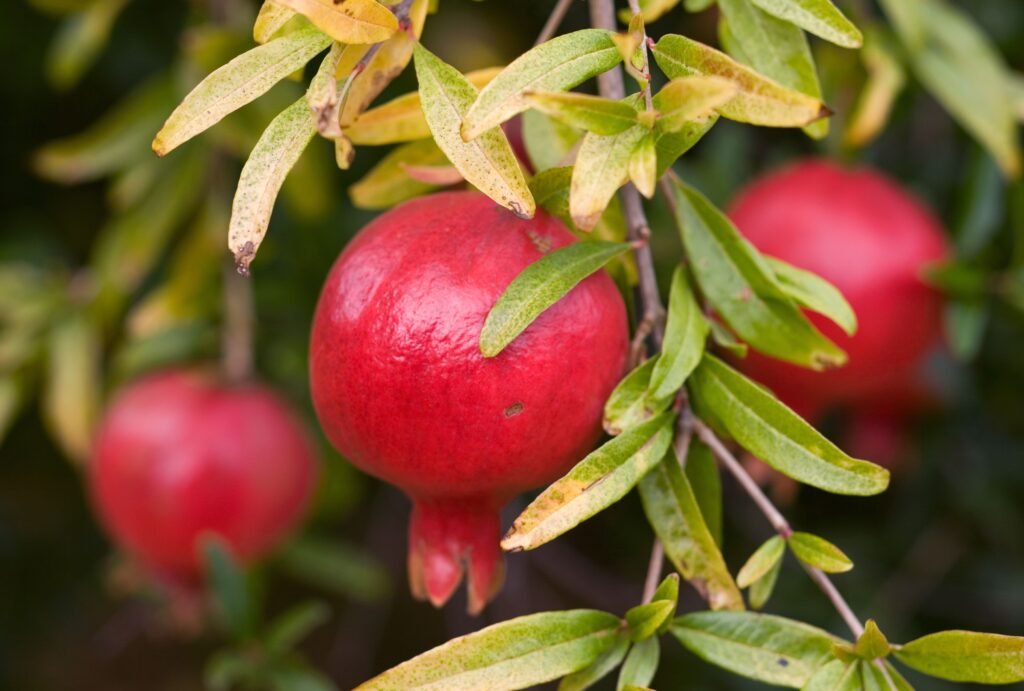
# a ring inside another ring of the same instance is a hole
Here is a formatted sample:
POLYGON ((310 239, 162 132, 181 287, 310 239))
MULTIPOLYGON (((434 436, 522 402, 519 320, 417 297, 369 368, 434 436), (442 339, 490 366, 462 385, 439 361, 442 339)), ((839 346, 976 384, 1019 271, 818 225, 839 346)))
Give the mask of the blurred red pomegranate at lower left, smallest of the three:
POLYGON ((111 404, 89 478, 114 541, 157 575, 190 582, 206 533, 243 562, 266 554, 304 513, 315 471, 306 429, 274 393, 170 370, 111 404))

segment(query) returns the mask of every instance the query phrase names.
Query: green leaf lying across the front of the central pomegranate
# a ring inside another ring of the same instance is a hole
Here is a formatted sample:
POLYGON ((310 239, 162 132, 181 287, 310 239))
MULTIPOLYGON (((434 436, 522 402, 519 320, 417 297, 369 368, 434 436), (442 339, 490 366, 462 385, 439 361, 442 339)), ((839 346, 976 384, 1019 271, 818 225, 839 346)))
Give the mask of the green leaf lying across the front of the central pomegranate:
POLYGON ((512 279, 490 308, 480 352, 495 357, 577 284, 627 252, 629 243, 589 240, 549 252, 512 279))

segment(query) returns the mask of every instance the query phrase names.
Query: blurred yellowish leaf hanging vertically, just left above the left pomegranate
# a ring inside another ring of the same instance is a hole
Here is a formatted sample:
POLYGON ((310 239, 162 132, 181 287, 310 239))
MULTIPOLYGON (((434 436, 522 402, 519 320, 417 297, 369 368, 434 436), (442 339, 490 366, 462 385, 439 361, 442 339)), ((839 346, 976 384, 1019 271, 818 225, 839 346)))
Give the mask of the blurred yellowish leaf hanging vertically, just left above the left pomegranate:
POLYGON ((99 331, 83 312, 66 315, 50 332, 43 415, 65 454, 79 463, 92 450, 99 416, 101 350, 99 331))

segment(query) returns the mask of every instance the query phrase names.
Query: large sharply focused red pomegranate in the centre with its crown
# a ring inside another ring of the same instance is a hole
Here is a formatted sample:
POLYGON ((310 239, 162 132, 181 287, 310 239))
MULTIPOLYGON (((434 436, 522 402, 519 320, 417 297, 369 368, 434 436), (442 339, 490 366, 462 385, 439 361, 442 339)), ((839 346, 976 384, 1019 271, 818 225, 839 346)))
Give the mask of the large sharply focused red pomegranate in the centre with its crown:
POLYGON ((626 362, 623 301, 603 272, 494 358, 484 317, 509 283, 572 235, 542 211, 516 218, 453 191, 378 217, 338 258, 310 345, 328 437, 413 501, 413 594, 440 606, 468 568, 478 612, 502 582, 499 510, 590 450, 626 362))

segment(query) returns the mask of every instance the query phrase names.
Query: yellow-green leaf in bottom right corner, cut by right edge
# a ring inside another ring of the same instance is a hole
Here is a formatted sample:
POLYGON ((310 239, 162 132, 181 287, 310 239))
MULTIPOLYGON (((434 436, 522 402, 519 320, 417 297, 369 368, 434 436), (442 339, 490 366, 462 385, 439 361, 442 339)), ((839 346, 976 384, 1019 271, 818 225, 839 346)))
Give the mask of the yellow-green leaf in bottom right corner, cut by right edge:
POLYGON ((918 672, 951 682, 1024 682, 1024 638, 973 631, 944 631, 896 650, 896 657, 918 672))

